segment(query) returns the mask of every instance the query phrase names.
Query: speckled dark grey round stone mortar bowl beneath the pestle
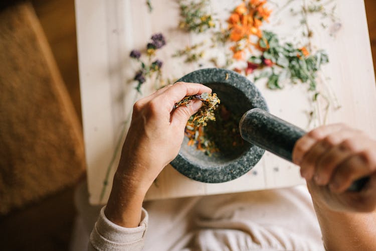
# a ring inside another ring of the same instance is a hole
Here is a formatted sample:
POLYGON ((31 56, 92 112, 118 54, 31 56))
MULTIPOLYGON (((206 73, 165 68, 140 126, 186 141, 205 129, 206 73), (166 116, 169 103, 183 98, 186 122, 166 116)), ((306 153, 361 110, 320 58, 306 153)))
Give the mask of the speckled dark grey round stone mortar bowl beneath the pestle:
MULTIPOLYGON (((213 89, 231 112, 244 114, 252 108, 268 110, 266 101, 257 87, 246 77, 230 70, 209 68, 191 72, 179 81, 201 83, 213 89)), ((226 137, 218 135, 218 137, 226 137)), ((178 172, 193 180, 221 183, 236 179, 251 170, 264 154, 264 150, 244 142, 232 153, 220 152, 207 156, 188 146, 184 137, 177 157, 170 163, 178 172), (218 156, 217 156, 218 155, 218 156)))

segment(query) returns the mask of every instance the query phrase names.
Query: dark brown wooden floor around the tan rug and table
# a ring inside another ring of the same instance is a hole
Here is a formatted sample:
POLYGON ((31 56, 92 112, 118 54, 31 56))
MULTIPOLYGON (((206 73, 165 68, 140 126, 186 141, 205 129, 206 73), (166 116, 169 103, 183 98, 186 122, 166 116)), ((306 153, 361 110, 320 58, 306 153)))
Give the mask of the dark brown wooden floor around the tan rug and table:
MULTIPOLYGON (((67 89, 81 118, 74 0, 33 0, 67 89)), ((376 65, 376 1, 365 0, 373 65, 376 65)), ((1 250, 67 250, 75 209, 74 188, 0 218, 1 250)))

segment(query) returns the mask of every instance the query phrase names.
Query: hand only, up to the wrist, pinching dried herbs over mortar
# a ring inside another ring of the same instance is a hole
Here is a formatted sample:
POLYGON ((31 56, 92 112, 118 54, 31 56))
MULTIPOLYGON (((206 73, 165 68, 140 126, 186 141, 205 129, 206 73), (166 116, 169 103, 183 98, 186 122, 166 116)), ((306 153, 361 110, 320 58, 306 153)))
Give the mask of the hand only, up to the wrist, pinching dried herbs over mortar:
POLYGON ((172 111, 174 104, 184 96, 203 92, 212 90, 202 84, 178 82, 134 104, 117 170, 122 179, 132 181, 146 192, 162 168, 178 154, 185 124, 202 102, 196 100, 172 111))

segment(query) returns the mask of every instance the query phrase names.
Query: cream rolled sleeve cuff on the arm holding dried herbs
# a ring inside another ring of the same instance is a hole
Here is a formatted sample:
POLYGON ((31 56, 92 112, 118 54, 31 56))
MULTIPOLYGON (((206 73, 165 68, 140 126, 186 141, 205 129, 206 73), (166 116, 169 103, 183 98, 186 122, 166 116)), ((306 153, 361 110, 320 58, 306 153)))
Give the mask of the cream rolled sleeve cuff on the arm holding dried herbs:
POLYGON ((141 222, 137 227, 116 225, 104 215, 103 207, 90 234, 88 251, 91 250, 141 250, 147 229, 148 215, 142 208, 141 222))

